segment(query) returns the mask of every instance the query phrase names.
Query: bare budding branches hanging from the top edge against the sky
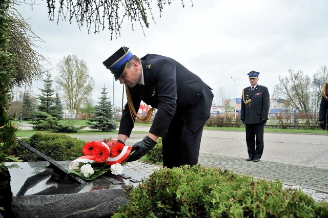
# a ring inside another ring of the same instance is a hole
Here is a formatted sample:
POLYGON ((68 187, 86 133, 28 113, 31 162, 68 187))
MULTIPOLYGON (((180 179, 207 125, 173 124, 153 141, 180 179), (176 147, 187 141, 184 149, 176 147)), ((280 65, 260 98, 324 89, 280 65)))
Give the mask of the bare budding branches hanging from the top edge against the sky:
MULTIPOLYGON (((24 3, 26 0, 23 0, 24 3)), ((22 1, 17 1, 22 2, 22 1)), ((164 5, 171 5, 173 0, 157 0, 157 8, 160 16, 164 5)), ((191 7, 193 7, 193 2, 191 7)), ((98 33, 105 29, 111 32, 111 40, 113 36, 120 36, 120 29, 124 19, 131 22, 134 31, 134 23, 138 22, 144 32, 144 27, 149 27, 149 18, 154 21, 152 14, 152 0, 47 0, 49 19, 52 21, 68 20, 70 24, 74 19, 79 29, 87 26, 88 33, 93 31, 98 33), (55 18, 55 14, 57 17, 55 18)), ((181 0, 182 7, 185 7, 181 0)), ((29 4, 29 3, 27 3, 29 4)), ((154 4, 154 3, 153 3, 154 4)), ((31 5, 35 5, 32 0, 31 5)), ((145 32, 144 32, 145 35, 145 32)))

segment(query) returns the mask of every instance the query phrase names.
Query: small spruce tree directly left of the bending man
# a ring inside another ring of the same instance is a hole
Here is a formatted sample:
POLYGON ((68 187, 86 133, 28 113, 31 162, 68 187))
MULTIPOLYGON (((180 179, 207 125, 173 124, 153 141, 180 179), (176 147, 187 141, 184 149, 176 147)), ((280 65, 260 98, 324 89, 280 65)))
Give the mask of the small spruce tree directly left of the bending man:
POLYGON ((94 115, 95 118, 88 119, 88 127, 92 129, 99 129, 103 132, 110 132, 117 128, 116 123, 114 122, 112 103, 110 102, 110 98, 107 97, 106 88, 102 88, 101 97, 98 98, 99 101, 95 106, 94 115))

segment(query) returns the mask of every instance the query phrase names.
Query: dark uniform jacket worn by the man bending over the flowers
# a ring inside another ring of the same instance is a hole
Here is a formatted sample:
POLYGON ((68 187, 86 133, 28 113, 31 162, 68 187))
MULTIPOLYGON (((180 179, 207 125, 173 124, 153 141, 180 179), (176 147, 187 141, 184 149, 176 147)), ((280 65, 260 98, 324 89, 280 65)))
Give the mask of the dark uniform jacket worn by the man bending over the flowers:
MULTIPOLYGON (((158 109, 150 133, 165 138, 173 116, 180 116, 194 132, 206 123, 213 93, 196 74, 176 60, 156 54, 142 57, 141 65, 145 85, 137 84, 129 90, 136 112, 141 100, 158 109)), ((126 104, 118 133, 130 137, 133 126, 126 104)))

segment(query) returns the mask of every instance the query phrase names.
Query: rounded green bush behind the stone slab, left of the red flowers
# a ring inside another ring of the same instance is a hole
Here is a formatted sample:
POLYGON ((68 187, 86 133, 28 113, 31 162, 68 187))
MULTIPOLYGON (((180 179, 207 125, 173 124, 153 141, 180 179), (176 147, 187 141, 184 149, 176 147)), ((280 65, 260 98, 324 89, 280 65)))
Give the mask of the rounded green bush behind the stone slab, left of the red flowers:
MULTIPOLYGON (((44 133, 36 133, 28 139, 22 139, 22 141, 55 161, 74 160, 82 156, 82 147, 86 143, 83 140, 63 134, 44 133)), ((44 161, 23 146, 16 146, 14 152, 23 161, 44 161)))

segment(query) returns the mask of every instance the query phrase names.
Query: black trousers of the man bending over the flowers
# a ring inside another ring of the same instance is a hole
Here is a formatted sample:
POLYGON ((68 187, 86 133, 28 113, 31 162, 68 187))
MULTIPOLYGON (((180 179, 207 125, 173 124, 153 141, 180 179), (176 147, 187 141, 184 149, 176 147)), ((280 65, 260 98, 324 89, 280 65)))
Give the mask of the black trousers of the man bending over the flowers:
POLYGON ((180 117, 170 123, 163 145, 163 166, 173 168, 182 165, 196 165, 199 157, 203 126, 193 132, 180 117))

